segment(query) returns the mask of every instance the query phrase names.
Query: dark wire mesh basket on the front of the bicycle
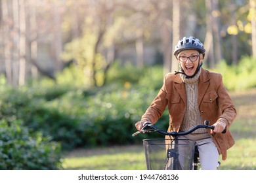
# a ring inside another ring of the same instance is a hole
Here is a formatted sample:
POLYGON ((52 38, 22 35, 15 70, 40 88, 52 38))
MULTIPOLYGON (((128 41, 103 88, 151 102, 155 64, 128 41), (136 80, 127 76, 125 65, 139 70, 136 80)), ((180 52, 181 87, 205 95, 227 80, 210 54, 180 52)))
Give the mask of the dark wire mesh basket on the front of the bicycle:
POLYGON ((144 139, 148 170, 190 170, 196 142, 188 139, 144 139))

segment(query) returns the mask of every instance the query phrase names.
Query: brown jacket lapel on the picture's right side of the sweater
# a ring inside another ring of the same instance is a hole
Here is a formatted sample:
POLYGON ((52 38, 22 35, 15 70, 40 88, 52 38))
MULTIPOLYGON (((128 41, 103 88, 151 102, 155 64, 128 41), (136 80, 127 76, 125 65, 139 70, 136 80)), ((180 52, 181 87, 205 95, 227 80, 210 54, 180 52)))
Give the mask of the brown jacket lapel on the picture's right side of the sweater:
POLYGON ((202 102, 203 96, 205 95, 205 92, 207 91, 210 84, 209 75, 207 75, 206 71, 203 68, 201 69, 202 71, 198 82, 198 106, 202 102))

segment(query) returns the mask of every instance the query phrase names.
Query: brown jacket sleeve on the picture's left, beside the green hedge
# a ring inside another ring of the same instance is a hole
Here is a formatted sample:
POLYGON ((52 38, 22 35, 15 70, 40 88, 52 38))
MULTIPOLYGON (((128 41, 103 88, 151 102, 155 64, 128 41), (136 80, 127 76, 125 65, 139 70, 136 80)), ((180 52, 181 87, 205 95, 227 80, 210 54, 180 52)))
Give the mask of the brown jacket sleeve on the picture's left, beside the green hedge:
POLYGON ((161 117, 163 112, 165 112, 165 108, 167 107, 167 99, 166 99, 166 88, 165 83, 167 80, 167 75, 163 80, 163 86, 156 98, 152 101, 150 107, 147 108, 146 112, 142 115, 141 121, 148 121, 152 124, 156 123, 158 119, 161 117))

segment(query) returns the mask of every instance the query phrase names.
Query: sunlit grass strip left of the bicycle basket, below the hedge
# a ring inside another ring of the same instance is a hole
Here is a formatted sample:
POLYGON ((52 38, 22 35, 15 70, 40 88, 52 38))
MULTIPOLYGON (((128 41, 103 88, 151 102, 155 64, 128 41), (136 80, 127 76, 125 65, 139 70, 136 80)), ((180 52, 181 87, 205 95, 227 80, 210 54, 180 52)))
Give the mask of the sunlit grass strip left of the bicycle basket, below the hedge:
POLYGON ((74 150, 64 159, 64 169, 123 170, 146 169, 143 146, 114 146, 74 150))

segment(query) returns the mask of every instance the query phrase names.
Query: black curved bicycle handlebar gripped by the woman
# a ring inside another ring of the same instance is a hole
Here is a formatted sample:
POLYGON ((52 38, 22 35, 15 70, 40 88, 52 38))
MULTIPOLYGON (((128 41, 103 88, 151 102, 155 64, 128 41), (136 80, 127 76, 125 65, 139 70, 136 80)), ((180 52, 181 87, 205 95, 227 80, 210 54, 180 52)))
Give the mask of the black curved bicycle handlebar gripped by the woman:
MULTIPOLYGON (((214 125, 209 125, 209 121, 205 120, 204 125, 196 125, 195 127, 193 127, 192 129, 190 129, 188 131, 167 132, 167 131, 164 131, 162 129, 158 129, 156 126, 152 125, 150 122, 146 122, 140 131, 137 131, 137 132, 133 133, 133 137, 135 135, 138 135, 139 133, 150 133, 150 132, 154 132, 154 131, 160 133, 161 135, 169 135, 169 136, 172 136, 172 137, 177 137, 179 135, 188 135, 188 134, 192 133, 193 131, 196 131, 196 129, 199 129, 199 128, 214 129, 214 127, 215 127, 214 125)), ((225 133, 225 132, 226 132, 226 128, 224 129, 224 131, 222 133, 225 133)))

